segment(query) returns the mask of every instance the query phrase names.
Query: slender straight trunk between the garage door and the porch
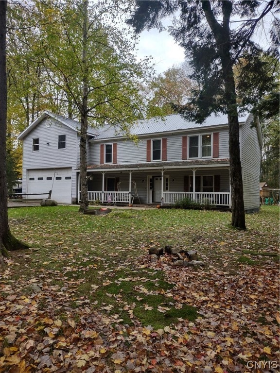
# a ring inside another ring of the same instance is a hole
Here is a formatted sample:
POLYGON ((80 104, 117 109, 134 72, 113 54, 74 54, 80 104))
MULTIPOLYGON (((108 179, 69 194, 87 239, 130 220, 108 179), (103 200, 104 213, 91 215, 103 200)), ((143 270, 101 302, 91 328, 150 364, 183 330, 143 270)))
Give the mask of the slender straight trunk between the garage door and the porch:
POLYGON ((83 212, 88 208, 88 182, 87 182, 87 131, 88 131, 88 0, 83 1, 83 102, 81 112, 81 139, 80 139, 80 183, 81 203, 79 211, 83 212))

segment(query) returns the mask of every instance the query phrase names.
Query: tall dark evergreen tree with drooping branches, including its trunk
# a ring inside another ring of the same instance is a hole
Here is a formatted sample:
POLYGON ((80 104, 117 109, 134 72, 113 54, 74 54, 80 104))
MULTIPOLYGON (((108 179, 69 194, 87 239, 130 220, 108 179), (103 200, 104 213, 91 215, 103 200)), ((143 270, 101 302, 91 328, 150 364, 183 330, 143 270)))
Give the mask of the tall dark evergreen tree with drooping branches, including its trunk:
MULTIPOLYGON (((264 1, 263 1, 264 3, 264 1)), ((176 110, 186 118, 202 122, 210 113, 227 113, 229 127, 231 225, 246 229, 243 181, 239 148, 238 102, 233 67, 243 54, 260 51, 251 40, 259 22, 277 7, 278 1, 265 2, 260 15, 259 1, 136 1, 127 23, 140 33, 144 28, 161 28, 161 18, 179 12, 170 33, 190 58, 191 78, 199 89, 192 100, 176 110), (244 20, 231 28, 231 18, 244 20)))

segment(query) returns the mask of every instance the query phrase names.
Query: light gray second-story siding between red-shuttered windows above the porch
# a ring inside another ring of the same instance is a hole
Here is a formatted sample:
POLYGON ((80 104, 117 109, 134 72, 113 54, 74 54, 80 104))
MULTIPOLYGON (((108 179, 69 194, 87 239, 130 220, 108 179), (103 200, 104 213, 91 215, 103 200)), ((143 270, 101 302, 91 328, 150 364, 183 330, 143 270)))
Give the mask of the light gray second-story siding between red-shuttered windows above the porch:
MULTIPOLYGON (((213 132, 219 132, 218 129, 212 130, 213 132)), ((192 131, 192 135, 196 134, 207 134, 212 131, 192 131)), ((157 139, 167 137, 167 161, 178 161, 182 159, 182 136, 189 133, 181 134, 161 134, 159 136, 150 136, 145 138, 140 138, 138 143, 134 143, 131 140, 106 140, 104 144, 110 144, 112 142, 118 143, 118 164, 133 164, 133 163, 145 163, 146 152, 147 152, 147 139, 157 139)), ((223 129, 220 131, 219 135, 220 145, 219 145, 219 158, 228 158, 228 130, 223 129)), ((90 144, 90 156, 89 164, 100 164, 100 142, 91 142, 90 144)))

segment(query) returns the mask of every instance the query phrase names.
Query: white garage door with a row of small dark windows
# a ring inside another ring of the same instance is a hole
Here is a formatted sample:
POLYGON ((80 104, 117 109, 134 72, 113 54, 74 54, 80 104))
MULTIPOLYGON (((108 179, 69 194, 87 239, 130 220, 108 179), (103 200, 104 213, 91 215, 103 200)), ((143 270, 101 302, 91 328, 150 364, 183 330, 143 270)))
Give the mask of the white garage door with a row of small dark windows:
MULTIPOLYGON (((57 203, 71 203, 72 169, 28 170, 27 193, 48 193, 57 203)), ((48 195, 29 195, 28 199, 48 198, 48 195)))

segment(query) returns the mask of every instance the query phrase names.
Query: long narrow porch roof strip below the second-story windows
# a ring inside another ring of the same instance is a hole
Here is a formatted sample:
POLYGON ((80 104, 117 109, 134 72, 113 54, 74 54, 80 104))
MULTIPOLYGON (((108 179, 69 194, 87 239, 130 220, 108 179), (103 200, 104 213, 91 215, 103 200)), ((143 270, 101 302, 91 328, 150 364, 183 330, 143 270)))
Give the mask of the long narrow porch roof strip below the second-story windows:
POLYGON ((158 169, 188 169, 188 168, 213 168, 229 167, 229 158, 225 159, 205 159, 186 160, 179 162, 147 162, 134 164, 108 164, 108 165, 88 165, 90 172, 116 171, 116 170, 158 170, 158 169))

